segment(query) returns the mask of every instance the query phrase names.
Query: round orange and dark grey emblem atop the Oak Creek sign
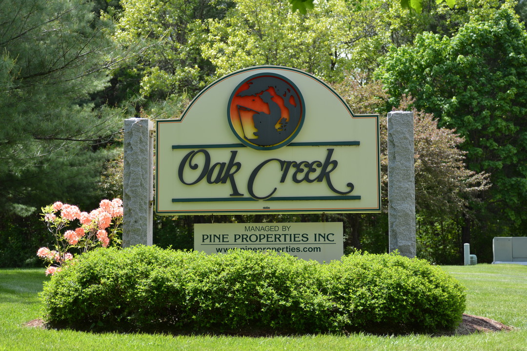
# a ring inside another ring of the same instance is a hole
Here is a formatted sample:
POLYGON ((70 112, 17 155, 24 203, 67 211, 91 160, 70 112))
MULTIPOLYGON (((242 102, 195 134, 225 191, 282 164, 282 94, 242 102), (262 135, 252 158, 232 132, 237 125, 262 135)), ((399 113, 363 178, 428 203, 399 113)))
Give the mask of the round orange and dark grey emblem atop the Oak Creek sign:
POLYGON ((304 116, 300 91, 278 74, 258 74, 245 79, 229 100, 232 131, 243 144, 259 150, 289 144, 300 131, 304 116))

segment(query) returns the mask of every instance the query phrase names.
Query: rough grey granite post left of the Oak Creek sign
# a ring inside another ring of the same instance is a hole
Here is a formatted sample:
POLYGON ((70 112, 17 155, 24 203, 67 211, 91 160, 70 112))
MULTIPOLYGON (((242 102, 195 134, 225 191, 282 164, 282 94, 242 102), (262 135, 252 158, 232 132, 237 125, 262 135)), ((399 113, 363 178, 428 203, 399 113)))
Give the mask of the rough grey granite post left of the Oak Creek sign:
POLYGON ((152 245, 153 129, 148 118, 124 121, 123 247, 152 245))

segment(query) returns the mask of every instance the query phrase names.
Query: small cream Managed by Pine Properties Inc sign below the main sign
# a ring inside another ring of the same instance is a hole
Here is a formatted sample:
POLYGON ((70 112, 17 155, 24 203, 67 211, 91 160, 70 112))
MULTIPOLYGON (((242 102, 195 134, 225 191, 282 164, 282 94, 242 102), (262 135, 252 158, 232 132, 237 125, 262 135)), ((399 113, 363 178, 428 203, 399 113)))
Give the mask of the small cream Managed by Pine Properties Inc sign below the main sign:
POLYGON ((194 250, 207 254, 230 249, 276 251, 320 263, 344 254, 342 223, 194 224, 194 250))

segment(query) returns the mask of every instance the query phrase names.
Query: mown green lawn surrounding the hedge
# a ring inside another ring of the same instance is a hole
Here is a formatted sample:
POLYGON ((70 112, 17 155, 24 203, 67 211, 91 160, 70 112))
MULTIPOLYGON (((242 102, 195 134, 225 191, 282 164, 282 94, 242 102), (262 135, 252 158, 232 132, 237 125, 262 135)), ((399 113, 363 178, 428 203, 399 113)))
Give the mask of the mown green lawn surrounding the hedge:
MULTIPOLYGON (((37 293, 43 269, 0 269, 0 351, 9 350, 527 350, 527 266, 445 266, 467 287, 466 313, 515 327, 512 332, 431 337, 427 335, 349 337, 212 337, 149 334, 93 334, 43 330, 24 323, 40 317, 37 293)), ((104 297, 101 297, 104 298, 104 297)))

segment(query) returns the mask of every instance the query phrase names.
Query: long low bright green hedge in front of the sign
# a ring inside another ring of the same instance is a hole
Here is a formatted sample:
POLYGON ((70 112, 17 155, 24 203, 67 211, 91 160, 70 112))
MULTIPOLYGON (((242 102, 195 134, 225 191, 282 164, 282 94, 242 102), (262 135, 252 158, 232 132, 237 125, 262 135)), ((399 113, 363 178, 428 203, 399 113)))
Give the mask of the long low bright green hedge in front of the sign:
POLYGON ((322 265, 155 246, 86 253, 41 297, 51 326, 106 330, 433 331, 455 327, 465 307, 464 288, 441 268, 395 254, 322 265))

